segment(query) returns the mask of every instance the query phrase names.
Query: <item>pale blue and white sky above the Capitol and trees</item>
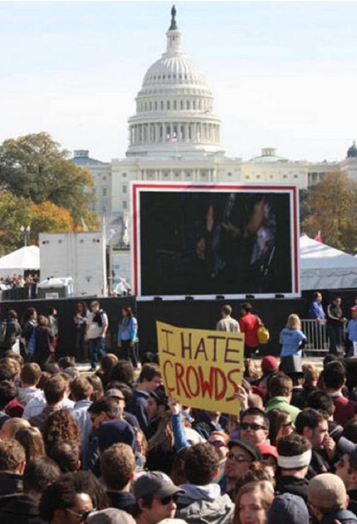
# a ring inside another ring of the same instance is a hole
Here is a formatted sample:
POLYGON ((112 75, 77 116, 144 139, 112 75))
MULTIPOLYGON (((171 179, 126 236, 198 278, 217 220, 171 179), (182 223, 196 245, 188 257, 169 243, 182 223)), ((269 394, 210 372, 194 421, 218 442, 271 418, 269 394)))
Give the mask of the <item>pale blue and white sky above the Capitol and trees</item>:
MULTIPOLYGON (((168 2, 1 2, 0 141, 41 130, 122 157, 144 73, 165 50, 168 2)), ((222 144, 339 160, 357 139, 356 2, 176 2, 222 144)))

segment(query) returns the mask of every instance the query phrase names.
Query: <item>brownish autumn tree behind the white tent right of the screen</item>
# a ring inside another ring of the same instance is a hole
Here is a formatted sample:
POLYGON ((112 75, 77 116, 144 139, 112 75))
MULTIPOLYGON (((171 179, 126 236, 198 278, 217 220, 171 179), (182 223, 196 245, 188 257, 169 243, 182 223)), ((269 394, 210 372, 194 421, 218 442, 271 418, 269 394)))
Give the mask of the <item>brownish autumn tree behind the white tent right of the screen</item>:
POLYGON ((357 249, 357 182, 339 171, 329 173, 310 192, 311 214, 303 227, 314 237, 321 231, 323 242, 353 253, 357 249))

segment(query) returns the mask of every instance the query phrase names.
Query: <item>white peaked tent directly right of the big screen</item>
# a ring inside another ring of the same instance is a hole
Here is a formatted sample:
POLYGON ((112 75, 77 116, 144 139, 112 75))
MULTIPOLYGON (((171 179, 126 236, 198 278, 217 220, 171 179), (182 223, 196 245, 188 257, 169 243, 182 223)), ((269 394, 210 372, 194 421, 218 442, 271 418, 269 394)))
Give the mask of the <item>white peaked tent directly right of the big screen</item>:
POLYGON ((303 235, 300 283, 302 290, 357 288, 357 259, 303 235))

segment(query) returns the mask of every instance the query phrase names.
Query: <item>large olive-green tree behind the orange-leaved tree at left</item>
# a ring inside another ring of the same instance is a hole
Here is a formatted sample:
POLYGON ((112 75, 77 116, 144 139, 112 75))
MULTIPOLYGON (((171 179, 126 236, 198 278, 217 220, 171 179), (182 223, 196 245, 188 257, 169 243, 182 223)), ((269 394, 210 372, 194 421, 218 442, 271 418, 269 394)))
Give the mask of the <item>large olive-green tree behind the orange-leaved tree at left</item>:
POLYGON ((8 139, 0 146, 0 187, 35 204, 51 201, 69 209, 74 225, 83 219, 97 227, 90 211, 94 200, 93 178, 89 171, 69 160, 69 151, 60 149, 47 133, 8 139))

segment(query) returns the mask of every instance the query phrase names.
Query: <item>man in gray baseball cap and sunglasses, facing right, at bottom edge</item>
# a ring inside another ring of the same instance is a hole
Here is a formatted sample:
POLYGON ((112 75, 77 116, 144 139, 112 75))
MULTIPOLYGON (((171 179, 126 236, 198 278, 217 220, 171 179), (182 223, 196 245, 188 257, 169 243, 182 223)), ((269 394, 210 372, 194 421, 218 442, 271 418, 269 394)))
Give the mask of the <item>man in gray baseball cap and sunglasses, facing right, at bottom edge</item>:
POLYGON ((183 490, 160 471, 142 473, 132 485, 136 499, 137 524, 157 524, 165 518, 174 518, 176 496, 183 490))

